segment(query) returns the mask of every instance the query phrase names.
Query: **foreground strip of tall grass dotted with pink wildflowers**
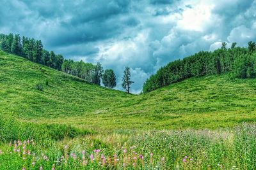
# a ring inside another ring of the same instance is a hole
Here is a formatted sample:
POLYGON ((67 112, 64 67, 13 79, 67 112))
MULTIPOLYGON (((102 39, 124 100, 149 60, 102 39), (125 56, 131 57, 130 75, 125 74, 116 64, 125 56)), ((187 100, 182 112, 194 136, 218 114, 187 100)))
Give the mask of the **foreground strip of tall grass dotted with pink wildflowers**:
POLYGON ((0 169, 256 169, 256 125, 16 140, 0 150, 0 169))

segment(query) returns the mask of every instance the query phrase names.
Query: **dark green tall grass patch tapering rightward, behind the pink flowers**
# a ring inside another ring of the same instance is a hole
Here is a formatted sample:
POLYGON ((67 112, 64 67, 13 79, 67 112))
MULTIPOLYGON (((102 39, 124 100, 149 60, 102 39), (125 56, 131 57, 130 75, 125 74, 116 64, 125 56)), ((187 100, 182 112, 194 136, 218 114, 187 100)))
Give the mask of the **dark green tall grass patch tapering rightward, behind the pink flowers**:
POLYGON ((61 124, 33 124, 20 122, 13 116, 0 114, 0 141, 9 142, 15 140, 45 139, 61 140, 64 138, 76 138, 92 133, 91 131, 80 130, 70 125, 61 124))

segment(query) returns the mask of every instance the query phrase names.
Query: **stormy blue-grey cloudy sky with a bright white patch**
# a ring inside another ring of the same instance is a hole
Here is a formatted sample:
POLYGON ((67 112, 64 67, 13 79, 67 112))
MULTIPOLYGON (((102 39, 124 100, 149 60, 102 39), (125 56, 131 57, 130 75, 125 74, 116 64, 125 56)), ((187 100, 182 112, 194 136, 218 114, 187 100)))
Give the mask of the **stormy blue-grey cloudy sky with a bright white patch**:
POLYGON ((256 41, 256 0, 1 0, 0 16, 0 33, 113 69, 116 89, 131 67, 133 93, 168 62, 256 41))

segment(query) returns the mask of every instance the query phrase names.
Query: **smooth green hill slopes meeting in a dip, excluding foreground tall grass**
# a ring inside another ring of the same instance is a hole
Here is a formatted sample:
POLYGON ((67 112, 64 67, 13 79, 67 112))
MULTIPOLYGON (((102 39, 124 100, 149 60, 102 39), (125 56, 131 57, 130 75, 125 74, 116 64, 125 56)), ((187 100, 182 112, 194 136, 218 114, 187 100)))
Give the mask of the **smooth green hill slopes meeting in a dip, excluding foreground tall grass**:
POLYGON ((256 121, 256 80, 204 76, 134 96, 0 52, 0 112, 98 131, 214 129, 256 121))

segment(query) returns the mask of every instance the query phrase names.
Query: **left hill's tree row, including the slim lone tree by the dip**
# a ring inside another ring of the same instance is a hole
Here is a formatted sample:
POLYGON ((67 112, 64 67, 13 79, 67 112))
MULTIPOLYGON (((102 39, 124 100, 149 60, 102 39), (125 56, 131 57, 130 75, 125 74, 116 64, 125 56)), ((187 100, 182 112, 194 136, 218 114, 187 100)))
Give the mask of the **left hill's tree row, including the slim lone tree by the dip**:
MULTIPOLYGON (((0 48, 4 52, 19 55, 44 66, 83 78, 89 83, 100 85, 102 80, 105 87, 109 89, 116 87, 116 75, 113 69, 106 69, 104 71, 99 62, 93 65, 83 62, 83 60, 74 61, 64 59, 60 54, 45 50, 41 40, 26 38, 24 36, 20 38, 19 34, 0 34, 0 48)), ((132 83, 130 68, 125 67, 122 87, 128 93, 132 83)))

